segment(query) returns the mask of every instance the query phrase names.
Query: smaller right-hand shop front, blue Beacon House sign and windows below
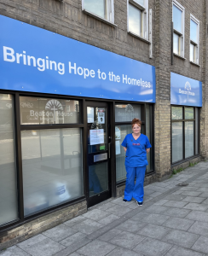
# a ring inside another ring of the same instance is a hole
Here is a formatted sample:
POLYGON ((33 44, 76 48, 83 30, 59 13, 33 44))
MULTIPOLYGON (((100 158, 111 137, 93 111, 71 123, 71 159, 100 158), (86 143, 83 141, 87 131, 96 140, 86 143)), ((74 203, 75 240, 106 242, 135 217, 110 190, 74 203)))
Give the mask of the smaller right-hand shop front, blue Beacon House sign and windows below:
POLYGON ((171 73, 171 164, 199 156, 199 113, 202 83, 171 73))

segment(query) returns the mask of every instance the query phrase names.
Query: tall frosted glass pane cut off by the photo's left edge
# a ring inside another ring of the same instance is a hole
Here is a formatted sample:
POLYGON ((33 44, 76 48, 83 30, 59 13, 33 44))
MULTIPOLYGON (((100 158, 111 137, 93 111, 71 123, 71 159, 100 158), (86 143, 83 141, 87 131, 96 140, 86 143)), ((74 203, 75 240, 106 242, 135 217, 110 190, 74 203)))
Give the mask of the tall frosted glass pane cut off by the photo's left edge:
POLYGON ((0 225, 18 218, 13 108, 12 96, 0 94, 0 225))

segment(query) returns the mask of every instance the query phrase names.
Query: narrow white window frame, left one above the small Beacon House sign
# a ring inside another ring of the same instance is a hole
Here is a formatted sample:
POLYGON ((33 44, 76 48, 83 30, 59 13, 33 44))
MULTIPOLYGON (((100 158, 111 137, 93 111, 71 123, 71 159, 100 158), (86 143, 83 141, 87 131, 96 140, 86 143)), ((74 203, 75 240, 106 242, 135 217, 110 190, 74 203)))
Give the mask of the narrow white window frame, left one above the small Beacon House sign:
MULTIPOLYGON (((182 58, 184 58, 185 8, 182 6, 181 3, 178 3, 176 0, 172 1, 172 22, 173 22, 173 5, 175 5, 177 9, 180 9, 182 11, 182 32, 178 32, 176 29, 174 29, 174 24, 173 24, 173 33, 176 33, 176 35, 179 36, 179 38, 181 38, 181 45, 179 45, 181 49, 180 49, 179 55, 182 56, 182 58)), ((174 53, 174 55, 176 55, 176 53, 174 53)))

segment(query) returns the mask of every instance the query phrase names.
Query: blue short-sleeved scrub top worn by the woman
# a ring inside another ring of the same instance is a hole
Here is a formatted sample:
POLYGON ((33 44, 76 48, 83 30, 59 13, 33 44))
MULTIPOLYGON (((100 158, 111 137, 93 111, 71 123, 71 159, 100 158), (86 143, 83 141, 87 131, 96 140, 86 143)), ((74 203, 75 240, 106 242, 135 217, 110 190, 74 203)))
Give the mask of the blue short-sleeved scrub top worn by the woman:
POLYGON ((125 166, 139 167, 148 165, 146 148, 152 148, 152 146, 146 135, 141 133, 140 137, 135 140, 132 133, 127 134, 121 146, 127 148, 125 166))

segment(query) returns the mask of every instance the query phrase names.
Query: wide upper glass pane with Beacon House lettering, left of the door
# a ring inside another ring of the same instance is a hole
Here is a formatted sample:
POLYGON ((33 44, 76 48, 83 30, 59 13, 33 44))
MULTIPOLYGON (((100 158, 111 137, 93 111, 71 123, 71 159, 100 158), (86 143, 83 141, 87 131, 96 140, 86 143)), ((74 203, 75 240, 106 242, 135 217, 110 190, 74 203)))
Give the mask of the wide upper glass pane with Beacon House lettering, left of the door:
POLYGON ((20 96, 21 125, 79 123, 79 102, 20 96))

